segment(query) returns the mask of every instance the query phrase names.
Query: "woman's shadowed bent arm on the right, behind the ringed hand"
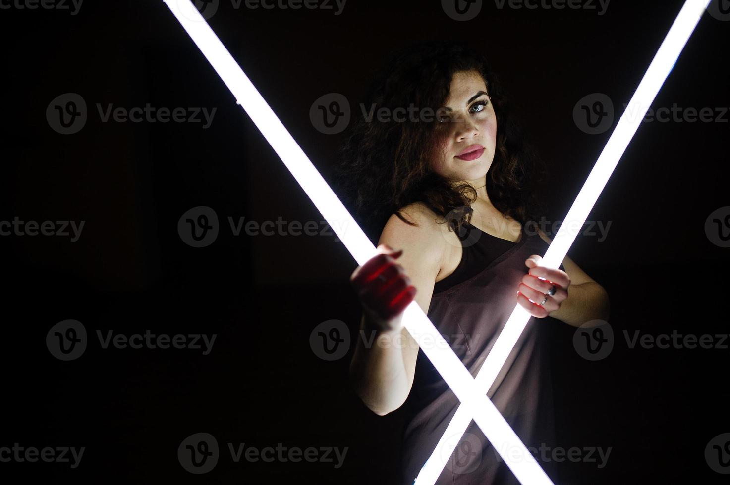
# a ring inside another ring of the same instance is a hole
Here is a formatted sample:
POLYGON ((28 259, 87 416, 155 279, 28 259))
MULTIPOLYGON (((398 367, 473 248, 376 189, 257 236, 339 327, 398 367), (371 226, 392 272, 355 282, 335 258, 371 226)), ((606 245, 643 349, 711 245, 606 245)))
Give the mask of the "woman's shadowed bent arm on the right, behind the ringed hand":
MULTIPOLYGON (((542 230, 538 229, 538 233, 546 243, 552 242, 542 230)), ((563 300, 559 309, 550 312, 550 317, 574 327, 580 327, 589 320, 608 320, 610 302, 604 287, 595 282, 567 256, 563 260, 563 267, 570 277, 568 298, 563 300)))

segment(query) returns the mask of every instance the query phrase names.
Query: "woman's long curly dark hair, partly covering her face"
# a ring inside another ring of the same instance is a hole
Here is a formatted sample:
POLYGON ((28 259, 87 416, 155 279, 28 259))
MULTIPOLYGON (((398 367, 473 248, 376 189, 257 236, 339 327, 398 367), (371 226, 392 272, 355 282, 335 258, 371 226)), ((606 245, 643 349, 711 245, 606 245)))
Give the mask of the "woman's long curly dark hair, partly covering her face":
MULTIPOLYGON (((539 202, 534 187, 546 170, 536 152, 523 139, 520 126, 510 116, 510 100, 485 58, 461 42, 417 42, 391 55, 374 76, 366 92, 368 109, 417 106, 437 112, 449 96, 453 74, 478 71, 487 86, 497 117, 494 160, 486 177, 493 206, 505 216, 526 224, 537 219, 539 202)), ((377 241, 395 213, 410 225, 401 209, 421 202, 460 230, 471 220, 474 187, 453 185, 431 169, 439 128, 436 120, 384 122, 356 117, 334 168, 335 184, 345 203, 354 209, 368 236, 377 241)))

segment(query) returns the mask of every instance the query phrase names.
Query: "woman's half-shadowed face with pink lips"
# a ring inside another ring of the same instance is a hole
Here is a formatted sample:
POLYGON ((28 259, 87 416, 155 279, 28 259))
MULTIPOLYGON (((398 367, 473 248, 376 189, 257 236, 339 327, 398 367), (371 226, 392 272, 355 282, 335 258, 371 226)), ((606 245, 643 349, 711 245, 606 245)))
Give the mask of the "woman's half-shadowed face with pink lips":
POLYGON ((481 74, 456 72, 439 115, 445 125, 437 132, 440 150, 431 168, 447 180, 482 187, 494 158, 497 120, 481 74))

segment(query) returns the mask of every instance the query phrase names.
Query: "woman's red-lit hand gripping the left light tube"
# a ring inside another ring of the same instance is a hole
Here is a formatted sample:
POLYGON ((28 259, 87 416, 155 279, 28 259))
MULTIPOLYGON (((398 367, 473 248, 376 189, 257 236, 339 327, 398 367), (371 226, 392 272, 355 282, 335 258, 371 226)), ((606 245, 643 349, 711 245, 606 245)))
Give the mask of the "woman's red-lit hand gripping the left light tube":
POLYGON ((393 251, 380 244, 377 251, 379 254, 355 268, 350 284, 360 299, 366 322, 385 332, 400 330, 403 311, 415 297, 416 288, 396 262, 403 249, 393 251))

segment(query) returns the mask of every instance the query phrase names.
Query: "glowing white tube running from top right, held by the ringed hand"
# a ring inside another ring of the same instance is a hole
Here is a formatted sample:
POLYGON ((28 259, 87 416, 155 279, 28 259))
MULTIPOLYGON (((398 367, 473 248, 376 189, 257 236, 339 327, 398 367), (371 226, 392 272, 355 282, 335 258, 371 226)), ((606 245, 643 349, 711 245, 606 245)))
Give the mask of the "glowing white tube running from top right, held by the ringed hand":
MULTIPOLYGON (((577 231, 583 227, 588 214, 590 214, 613 169, 618 164, 618 160, 621 159, 623 152, 629 145, 629 141, 639 128, 639 123, 646 116, 661 85, 664 84, 664 80, 672 71, 672 67, 674 67, 677 58, 679 58, 708 4, 710 4, 710 0, 685 1, 675 22, 669 28, 669 33, 666 34, 664 42, 661 43, 653 61, 651 61, 649 69, 639 82, 639 87, 634 96, 631 97, 629 105, 626 106, 621 120, 618 121, 618 125, 611 133, 606 147, 604 147, 603 152, 596 161, 596 165, 593 166, 591 174, 585 180, 583 188, 575 198, 575 202, 568 211, 563 224, 558 229, 558 233, 553 238, 550 247, 548 247, 548 252, 545 253, 540 265, 548 268, 558 268, 567 255, 568 249, 573 244, 575 236, 577 236, 577 231)), ((476 384, 482 395, 485 395, 492 387, 497 374, 502 370, 504 362, 507 361, 507 357, 517 344, 518 338, 520 338, 530 317, 531 315, 522 306, 515 306, 502 332, 499 333, 491 352, 489 352, 479 373, 477 373, 476 384)), ((448 459, 446 454, 442 453, 442 447, 446 446, 447 441, 450 441, 454 435, 463 435, 471 421, 472 414, 469 414, 469 410, 465 406, 460 406, 426 465, 423 465, 420 473, 418 473, 415 484, 433 485, 436 482, 444 469, 445 460, 448 459)))

